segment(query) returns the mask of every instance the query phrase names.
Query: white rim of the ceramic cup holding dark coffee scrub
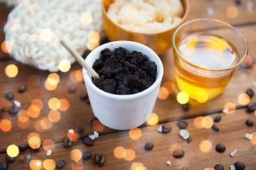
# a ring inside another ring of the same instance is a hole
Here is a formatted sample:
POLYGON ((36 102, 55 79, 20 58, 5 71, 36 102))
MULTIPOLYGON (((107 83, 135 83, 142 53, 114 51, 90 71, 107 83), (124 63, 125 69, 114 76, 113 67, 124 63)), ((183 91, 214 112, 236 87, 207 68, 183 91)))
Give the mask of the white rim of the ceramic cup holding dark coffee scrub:
MULTIPOLYGON (((154 61, 154 62, 156 63, 157 71, 159 70, 159 72, 156 73, 156 81, 154 81, 154 83, 151 84, 151 86, 149 86, 149 88, 145 89, 144 91, 140 91, 137 94, 124 94, 124 95, 110 94, 110 93, 107 93, 106 91, 103 91, 102 89, 98 88, 97 86, 95 86, 95 84, 92 83, 91 76, 89 75, 89 73, 87 73, 85 68, 82 68, 82 74, 85 79, 85 82, 94 91, 97 91, 97 93, 100 93, 102 96, 105 96, 107 98, 118 99, 118 100, 130 100, 133 98, 139 98, 141 96, 149 94, 151 91, 154 91, 154 89, 158 86, 158 84, 161 84, 161 80, 164 76, 164 66, 161 62, 160 57, 158 55, 156 55, 156 52, 154 52, 154 50, 151 50, 151 48, 149 48, 146 45, 143 45, 139 42, 133 42, 133 41, 128 41, 128 40, 118 40, 118 41, 107 42, 103 45, 100 45, 99 47, 96 47, 94 50, 92 50, 92 52, 90 52, 89 55, 87 55, 87 57, 85 58, 85 61, 89 60, 90 56, 93 57, 94 55, 97 55, 97 53, 100 54, 99 51, 105 49, 106 47, 110 47, 110 45, 113 45, 113 44, 121 44, 119 46, 122 46, 122 44, 125 44, 126 46, 137 45, 137 46, 139 46, 139 48, 147 50, 148 51, 147 53, 149 53, 151 56, 154 56, 154 58, 156 59, 156 61, 154 61)), ((139 51, 139 50, 137 50, 137 51, 139 51)), ((97 58, 98 57, 96 57, 95 59, 97 59, 97 58)), ((94 63, 94 62, 92 62, 92 63, 94 63)), ((92 67, 92 65, 91 65, 91 67, 92 67)))

